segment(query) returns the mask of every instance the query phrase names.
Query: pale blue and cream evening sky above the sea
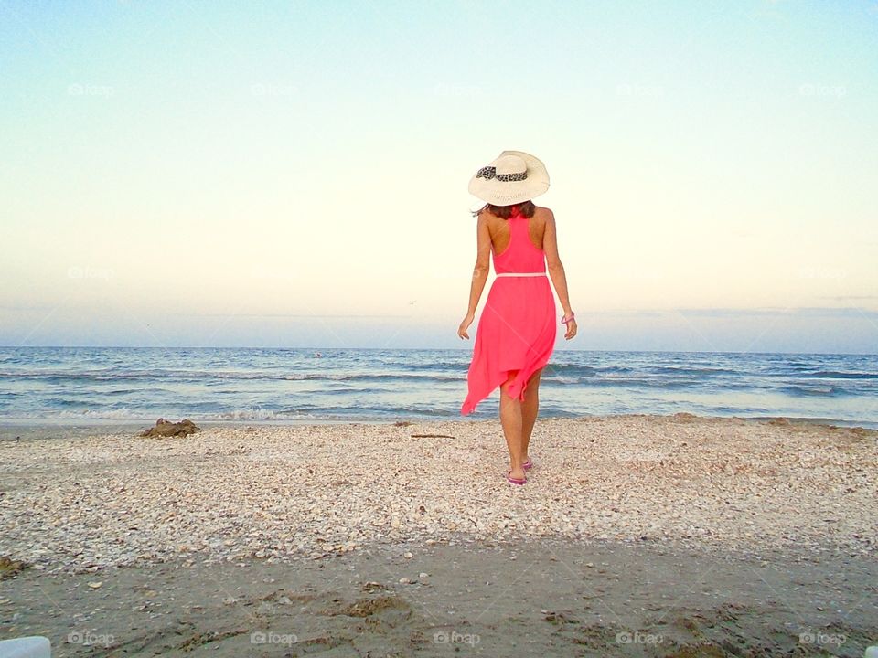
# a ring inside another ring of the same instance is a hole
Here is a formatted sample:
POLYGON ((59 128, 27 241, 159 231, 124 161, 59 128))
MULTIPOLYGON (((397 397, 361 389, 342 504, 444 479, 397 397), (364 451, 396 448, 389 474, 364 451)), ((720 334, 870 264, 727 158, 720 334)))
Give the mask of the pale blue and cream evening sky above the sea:
POLYGON ((557 349, 874 354, 876 53, 874 0, 0 0, 0 345, 472 350, 511 149, 557 349))

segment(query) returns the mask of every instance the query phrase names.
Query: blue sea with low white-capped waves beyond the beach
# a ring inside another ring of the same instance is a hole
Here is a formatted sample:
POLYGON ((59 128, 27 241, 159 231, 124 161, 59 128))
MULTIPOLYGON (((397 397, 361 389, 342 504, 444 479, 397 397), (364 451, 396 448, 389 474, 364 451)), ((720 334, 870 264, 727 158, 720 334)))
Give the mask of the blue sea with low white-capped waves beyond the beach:
MULTIPOLYGON (((468 349, 0 347, 0 424, 388 422, 468 416, 468 349)), ((878 356, 556 349, 541 418, 812 420, 878 429, 878 356)))

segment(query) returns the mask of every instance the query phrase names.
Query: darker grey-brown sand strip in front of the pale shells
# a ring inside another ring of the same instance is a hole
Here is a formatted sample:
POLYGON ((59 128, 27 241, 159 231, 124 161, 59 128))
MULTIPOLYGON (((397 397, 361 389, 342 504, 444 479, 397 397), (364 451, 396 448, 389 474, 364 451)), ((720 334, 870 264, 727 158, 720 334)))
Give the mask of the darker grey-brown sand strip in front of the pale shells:
POLYGON ((4 637, 46 635, 56 656, 442 656, 453 644, 486 656, 859 658, 878 637, 876 583, 873 558, 540 539, 294 565, 26 570, 4 582, 0 617, 4 637))

